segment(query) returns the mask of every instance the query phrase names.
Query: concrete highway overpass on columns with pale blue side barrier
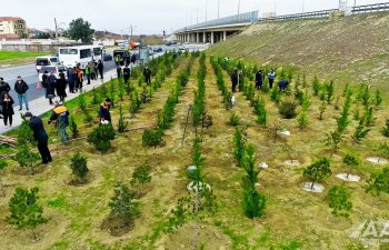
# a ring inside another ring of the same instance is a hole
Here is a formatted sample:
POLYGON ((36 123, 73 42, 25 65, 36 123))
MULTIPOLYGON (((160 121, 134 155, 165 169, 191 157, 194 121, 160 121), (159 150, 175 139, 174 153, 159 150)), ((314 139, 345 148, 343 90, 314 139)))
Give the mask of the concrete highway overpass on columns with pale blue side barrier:
POLYGON ((216 43, 243 31, 258 21, 258 11, 221 18, 189 26, 174 32, 178 41, 216 43))

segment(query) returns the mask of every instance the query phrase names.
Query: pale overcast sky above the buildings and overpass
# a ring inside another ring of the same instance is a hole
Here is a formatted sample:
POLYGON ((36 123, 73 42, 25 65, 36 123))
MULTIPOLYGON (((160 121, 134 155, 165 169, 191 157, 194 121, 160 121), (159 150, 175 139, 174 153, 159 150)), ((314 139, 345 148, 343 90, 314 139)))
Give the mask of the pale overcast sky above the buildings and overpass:
MULTIPOLYGON (((76 18, 83 18, 96 30, 134 34, 161 33, 167 30, 194 24, 218 17, 218 0, 0 0, 0 16, 20 17, 29 28, 54 29, 53 19, 67 28, 76 18)), ((386 2, 387 0, 357 0, 357 4, 386 2)), ((220 0, 220 17, 238 13, 239 0, 220 0)), ((240 12, 259 10, 277 14, 338 8, 339 0, 240 0, 240 12)), ((349 0, 349 6, 353 0, 349 0)))

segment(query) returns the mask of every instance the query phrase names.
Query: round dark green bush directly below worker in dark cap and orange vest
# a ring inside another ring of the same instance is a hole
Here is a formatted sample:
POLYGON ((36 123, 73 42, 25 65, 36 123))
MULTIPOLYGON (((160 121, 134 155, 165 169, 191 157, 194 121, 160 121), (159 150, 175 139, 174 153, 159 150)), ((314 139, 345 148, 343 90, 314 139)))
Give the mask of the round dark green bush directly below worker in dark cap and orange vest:
POLYGON ((111 149, 111 140, 114 137, 116 132, 111 123, 99 124, 88 134, 88 142, 92 143, 100 152, 108 152, 111 149))

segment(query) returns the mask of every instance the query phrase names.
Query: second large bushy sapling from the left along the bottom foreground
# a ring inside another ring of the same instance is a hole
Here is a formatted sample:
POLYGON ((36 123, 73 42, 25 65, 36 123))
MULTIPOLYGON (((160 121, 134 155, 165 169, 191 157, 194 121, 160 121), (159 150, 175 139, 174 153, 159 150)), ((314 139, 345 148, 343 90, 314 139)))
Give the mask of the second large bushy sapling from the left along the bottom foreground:
POLYGON ((123 222, 132 222, 139 214, 139 203, 133 200, 134 193, 123 183, 114 187, 114 194, 109 202, 110 219, 119 219, 123 222))

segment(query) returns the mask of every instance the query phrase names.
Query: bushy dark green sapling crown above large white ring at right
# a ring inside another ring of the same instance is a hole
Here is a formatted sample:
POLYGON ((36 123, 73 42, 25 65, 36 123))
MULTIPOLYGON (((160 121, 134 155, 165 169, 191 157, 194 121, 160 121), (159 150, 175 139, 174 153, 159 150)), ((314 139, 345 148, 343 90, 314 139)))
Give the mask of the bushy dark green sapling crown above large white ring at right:
POLYGON ((308 178, 312 182, 312 189, 315 182, 326 180, 331 176, 331 173, 330 161, 327 158, 316 161, 303 170, 303 177, 308 178))

